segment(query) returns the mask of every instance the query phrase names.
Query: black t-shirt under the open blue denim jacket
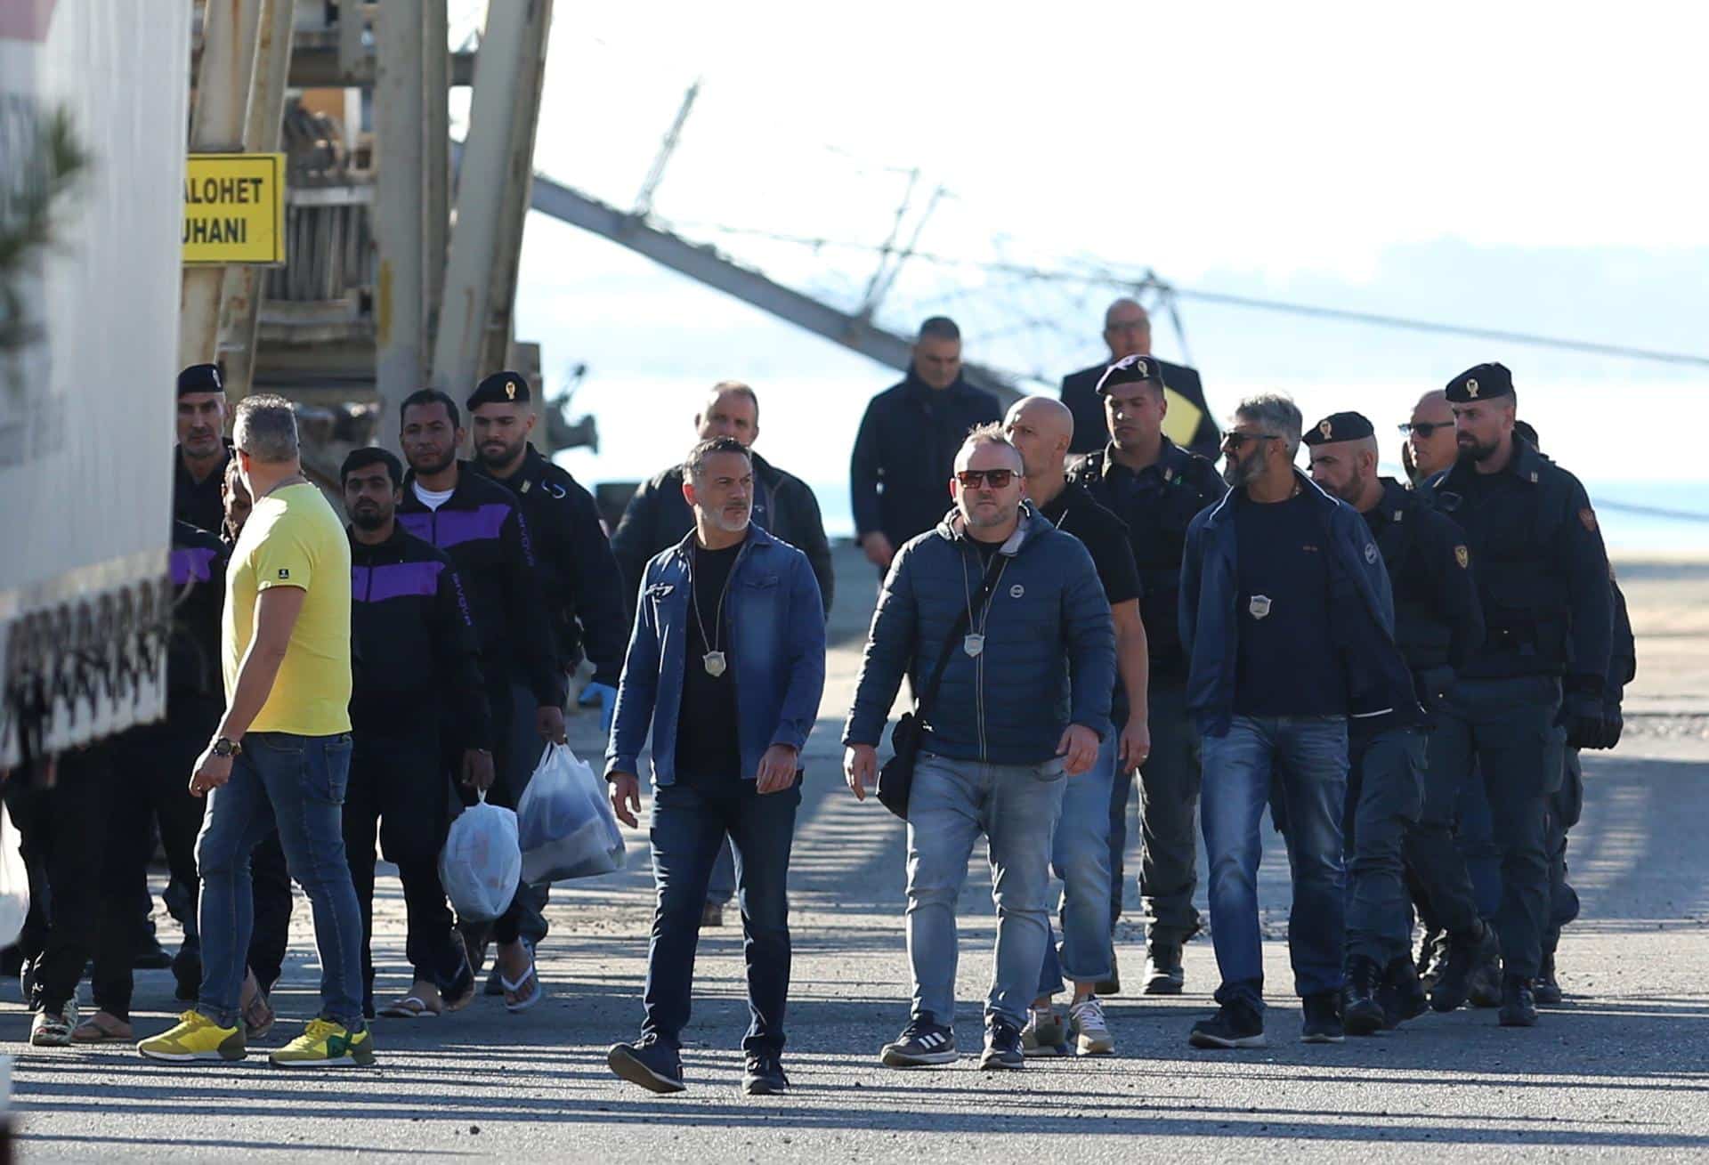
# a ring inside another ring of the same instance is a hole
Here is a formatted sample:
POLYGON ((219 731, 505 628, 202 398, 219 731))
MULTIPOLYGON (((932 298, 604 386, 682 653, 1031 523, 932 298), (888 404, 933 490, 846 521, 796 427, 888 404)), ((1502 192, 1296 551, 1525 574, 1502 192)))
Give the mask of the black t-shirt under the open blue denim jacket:
POLYGON ((745 542, 743 538, 723 550, 694 545, 682 707, 677 711, 678 781, 718 784, 745 776, 742 743, 737 736, 737 659, 730 644, 730 596, 725 593, 730 571, 745 542), (725 656, 725 668, 716 676, 706 670, 706 654, 711 651, 721 651, 725 656))

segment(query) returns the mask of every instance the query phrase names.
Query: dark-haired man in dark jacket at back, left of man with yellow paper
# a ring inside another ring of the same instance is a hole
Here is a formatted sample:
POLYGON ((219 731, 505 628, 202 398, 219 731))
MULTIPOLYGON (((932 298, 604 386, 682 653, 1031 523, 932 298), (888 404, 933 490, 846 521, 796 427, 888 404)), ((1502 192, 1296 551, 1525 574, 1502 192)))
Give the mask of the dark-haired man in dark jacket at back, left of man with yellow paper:
POLYGON ((880 572, 904 542, 943 516, 943 483, 967 430, 1001 417, 996 396, 960 376, 955 321, 933 316, 919 325, 907 378, 866 405, 849 460, 854 535, 880 572))

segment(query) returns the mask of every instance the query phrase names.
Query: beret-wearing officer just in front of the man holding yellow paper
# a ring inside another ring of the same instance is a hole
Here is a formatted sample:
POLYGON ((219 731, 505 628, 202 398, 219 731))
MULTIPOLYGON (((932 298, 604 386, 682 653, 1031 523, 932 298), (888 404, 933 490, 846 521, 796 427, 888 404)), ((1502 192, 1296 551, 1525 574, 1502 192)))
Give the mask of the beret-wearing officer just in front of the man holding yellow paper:
MULTIPOLYGON (((1089 454, 1070 475, 1092 499, 1128 524, 1140 567, 1140 618, 1150 646, 1150 757, 1140 765, 1140 897, 1150 924, 1145 936, 1145 992, 1179 994, 1181 946, 1198 933, 1193 890, 1198 883, 1200 736, 1186 707, 1186 656, 1181 651, 1178 598, 1186 528, 1198 511, 1227 494, 1205 458, 1164 434, 1169 413, 1164 372, 1148 355, 1111 364, 1097 383, 1111 442, 1089 454)), ((1128 796, 1133 774, 1119 774, 1109 803, 1111 926, 1121 914, 1128 844, 1128 796)), ((1099 994, 1114 994, 1114 981, 1099 994)))

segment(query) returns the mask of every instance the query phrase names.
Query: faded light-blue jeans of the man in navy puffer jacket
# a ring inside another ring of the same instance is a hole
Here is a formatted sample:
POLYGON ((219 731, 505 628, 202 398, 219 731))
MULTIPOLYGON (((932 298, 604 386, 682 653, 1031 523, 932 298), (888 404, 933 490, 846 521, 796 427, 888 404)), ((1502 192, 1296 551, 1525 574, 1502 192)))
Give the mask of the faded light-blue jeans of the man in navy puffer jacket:
POLYGON ((996 1016, 1017 1028, 1027 1022, 1049 946, 1051 835, 1063 789, 1060 758, 991 765, 919 753, 907 801, 907 962, 916 1016, 955 1022, 955 900, 972 844, 984 834, 996 904, 986 1025, 996 1016))

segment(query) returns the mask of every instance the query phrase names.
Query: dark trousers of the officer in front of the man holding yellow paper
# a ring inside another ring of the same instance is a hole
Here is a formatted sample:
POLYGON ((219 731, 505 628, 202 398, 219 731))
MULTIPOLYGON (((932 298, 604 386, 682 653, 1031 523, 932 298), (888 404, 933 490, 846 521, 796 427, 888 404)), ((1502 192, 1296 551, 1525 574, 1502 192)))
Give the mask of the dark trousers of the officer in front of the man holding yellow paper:
MULTIPOLYGON (((1150 941, 1184 943, 1198 933, 1193 892, 1198 888, 1200 733, 1186 709, 1179 680, 1155 680, 1147 705, 1152 755, 1140 769, 1140 900, 1150 917, 1150 941)), ((1111 928, 1121 917, 1128 849, 1128 794, 1133 772, 1118 772, 1109 801, 1111 928)))

